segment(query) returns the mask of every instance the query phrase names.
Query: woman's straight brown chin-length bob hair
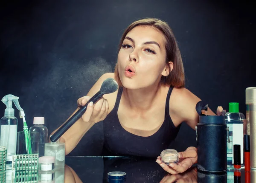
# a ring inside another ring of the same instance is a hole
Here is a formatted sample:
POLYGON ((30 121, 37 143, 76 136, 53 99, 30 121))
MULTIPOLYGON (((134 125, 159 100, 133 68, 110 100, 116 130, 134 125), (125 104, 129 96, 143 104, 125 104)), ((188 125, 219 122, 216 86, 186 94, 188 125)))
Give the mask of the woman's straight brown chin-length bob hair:
MULTIPOLYGON (((157 28, 160 32, 163 33, 166 43, 166 65, 169 67, 169 62, 173 62, 173 70, 168 76, 162 76, 160 82, 163 84, 170 84, 172 87, 182 88, 185 87, 185 75, 184 75, 184 68, 183 63, 180 55, 180 50, 177 45, 176 38, 172 32, 172 29, 166 22, 162 20, 158 20, 156 18, 147 18, 142 20, 137 20, 134 23, 131 23, 128 28, 126 28, 122 38, 119 42, 118 51, 120 51, 122 47, 122 42, 125 39, 126 35, 128 34, 131 29, 137 27, 139 25, 148 25, 154 28, 157 28)), ((115 67, 115 79, 119 86, 122 86, 121 80, 119 78, 119 73, 117 69, 117 64, 115 67)))

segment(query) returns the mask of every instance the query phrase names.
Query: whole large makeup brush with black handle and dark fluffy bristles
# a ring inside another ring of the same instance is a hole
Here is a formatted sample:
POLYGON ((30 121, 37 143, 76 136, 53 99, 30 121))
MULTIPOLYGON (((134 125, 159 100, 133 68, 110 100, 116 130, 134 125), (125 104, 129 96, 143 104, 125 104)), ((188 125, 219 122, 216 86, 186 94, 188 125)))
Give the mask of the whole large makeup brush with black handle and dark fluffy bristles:
POLYGON ((117 82, 113 78, 105 79, 98 93, 90 98, 87 103, 82 106, 66 123, 64 123, 50 138, 52 142, 56 142, 79 118, 85 113, 87 105, 92 101, 95 104, 103 95, 113 93, 117 90, 117 82))

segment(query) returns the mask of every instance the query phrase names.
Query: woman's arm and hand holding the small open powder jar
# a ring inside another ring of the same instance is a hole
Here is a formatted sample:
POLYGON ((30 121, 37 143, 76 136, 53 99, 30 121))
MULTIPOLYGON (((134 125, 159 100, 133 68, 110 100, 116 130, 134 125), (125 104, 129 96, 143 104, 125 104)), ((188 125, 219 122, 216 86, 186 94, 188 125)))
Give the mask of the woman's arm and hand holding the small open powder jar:
MULTIPOLYGON (((174 88, 172 92, 170 97, 170 106, 172 106, 170 108, 170 116, 172 116, 171 114, 175 114, 174 118, 178 121, 177 124, 184 121, 195 130, 195 126, 199 122, 199 115, 196 112, 195 106, 201 99, 186 88, 174 88)), ((208 115, 215 115, 209 108, 207 112, 208 115)), ((160 157, 157 157, 156 162, 170 174, 178 174, 189 169, 197 162, 197 158, 197 149, 195 147, 188 147, 184 152, 179 152, 180 161, 177 164, 170 163, 166 165, 160 157)))

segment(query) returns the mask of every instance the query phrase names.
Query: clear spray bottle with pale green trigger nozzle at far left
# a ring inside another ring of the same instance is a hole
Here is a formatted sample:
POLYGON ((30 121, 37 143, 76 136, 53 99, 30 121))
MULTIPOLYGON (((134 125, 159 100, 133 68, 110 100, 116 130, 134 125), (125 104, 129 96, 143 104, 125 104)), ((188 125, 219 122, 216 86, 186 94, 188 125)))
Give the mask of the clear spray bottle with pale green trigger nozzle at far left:
POLYGON ((12 157, 16 154, 18 120, 14 116, 12 102, 21 111, 18 99, 19 97, 13 95, 6 95, 2 99, 3 103, 6 104, 6 109, 0 120, 0 146, 7 148, 6 169, 12 168, 12 157))

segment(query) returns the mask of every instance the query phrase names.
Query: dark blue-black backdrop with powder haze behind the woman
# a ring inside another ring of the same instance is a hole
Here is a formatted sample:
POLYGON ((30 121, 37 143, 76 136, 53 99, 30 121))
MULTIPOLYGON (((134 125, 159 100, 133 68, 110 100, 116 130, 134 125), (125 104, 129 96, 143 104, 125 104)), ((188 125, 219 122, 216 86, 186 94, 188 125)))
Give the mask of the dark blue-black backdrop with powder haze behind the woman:
MULTIPOLYGON (((254 11, 251 2, 231 0, 1 1, 0 98, 20 97, 28 126, 44 116, 52 132, 103 73, 113 72, 125 28, 155 17, 175 33, 186 87, 214 111, 239 102, 245 113, 245 89, 256 86, 254 11)), ((2 116, 4 109, 0 104, 2 116)), ((100 122, 70 155, 100 155, 102 142, 100 122)), ((175 148, 188 146, 196 146, 195 131, 183 124, 175 148)))

